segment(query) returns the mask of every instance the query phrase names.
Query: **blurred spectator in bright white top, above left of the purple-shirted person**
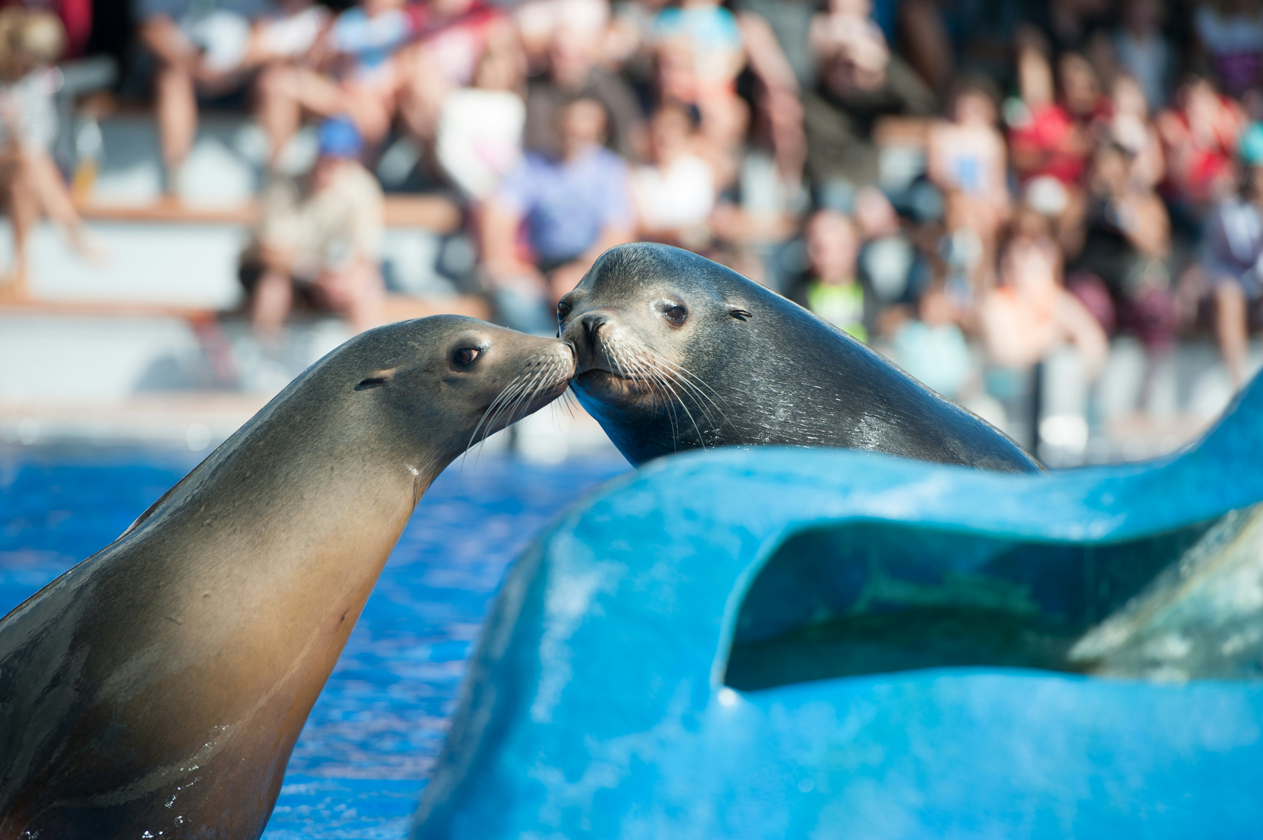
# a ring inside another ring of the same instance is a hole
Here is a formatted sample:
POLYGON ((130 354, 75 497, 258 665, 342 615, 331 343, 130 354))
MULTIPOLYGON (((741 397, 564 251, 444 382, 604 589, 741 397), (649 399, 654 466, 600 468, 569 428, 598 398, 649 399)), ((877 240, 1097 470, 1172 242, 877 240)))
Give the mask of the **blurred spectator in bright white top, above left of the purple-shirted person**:
POLYGON ((522 158, 527 106, 517 56, 488 51, 474 87, 452 92, 438 115, 438 163, 469 197, 490 196, 522 158))

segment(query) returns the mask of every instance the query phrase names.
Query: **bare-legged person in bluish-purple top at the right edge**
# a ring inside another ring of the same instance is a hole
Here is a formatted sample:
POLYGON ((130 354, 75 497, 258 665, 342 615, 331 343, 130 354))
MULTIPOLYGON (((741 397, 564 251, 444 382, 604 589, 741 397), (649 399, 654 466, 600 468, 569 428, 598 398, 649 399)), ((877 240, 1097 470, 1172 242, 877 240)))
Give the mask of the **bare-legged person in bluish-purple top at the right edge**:
POLYGON ((1263 320, 1263 123, 1238 147, 1240 191, 1221 201, 1202 235, 1201 268, 1211 287, 1215 337, 1233 388, 1245 381, 1249 330, 1263 320))

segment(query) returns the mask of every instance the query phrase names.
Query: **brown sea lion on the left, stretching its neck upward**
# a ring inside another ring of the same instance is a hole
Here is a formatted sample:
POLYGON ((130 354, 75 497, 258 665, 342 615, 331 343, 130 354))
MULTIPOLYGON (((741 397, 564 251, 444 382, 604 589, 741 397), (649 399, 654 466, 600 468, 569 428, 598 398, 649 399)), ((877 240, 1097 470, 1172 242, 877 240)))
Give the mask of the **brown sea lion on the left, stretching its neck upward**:
POLYGON ((458 316, 365 332, 0 620, 0 837, 258 837, 390 549, 571 349, 458 316))

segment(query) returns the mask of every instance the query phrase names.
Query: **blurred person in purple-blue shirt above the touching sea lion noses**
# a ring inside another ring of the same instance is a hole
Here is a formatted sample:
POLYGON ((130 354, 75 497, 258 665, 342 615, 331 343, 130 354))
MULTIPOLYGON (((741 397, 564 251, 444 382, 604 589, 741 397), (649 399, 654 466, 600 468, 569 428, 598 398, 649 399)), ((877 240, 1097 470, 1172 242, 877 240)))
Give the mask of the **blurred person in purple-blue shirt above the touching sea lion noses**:
POLYGON ((570 102, 562 155, 528 153, 484 208, 484 264, 500 317, 512 327, 552 333, 561 296, 602 251, 633 237, 628 167, 605 148, 605 130, 600 102, 570 102))

